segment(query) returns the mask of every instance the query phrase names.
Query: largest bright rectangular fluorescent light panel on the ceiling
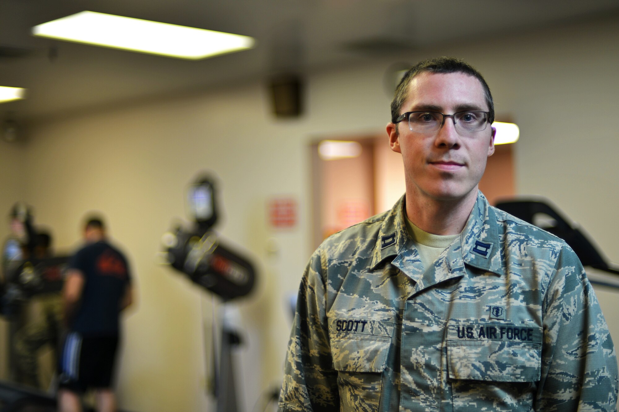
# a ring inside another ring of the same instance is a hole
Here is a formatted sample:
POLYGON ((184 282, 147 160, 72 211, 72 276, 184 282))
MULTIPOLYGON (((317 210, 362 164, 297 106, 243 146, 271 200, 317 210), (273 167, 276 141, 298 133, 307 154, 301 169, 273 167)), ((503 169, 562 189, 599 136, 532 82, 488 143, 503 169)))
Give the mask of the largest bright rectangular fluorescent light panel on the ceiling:
POLYGON ((206 59, 251 48, 254 39, 203 28, 84 11, 32 28, 32 34, 181 59, 206 59))

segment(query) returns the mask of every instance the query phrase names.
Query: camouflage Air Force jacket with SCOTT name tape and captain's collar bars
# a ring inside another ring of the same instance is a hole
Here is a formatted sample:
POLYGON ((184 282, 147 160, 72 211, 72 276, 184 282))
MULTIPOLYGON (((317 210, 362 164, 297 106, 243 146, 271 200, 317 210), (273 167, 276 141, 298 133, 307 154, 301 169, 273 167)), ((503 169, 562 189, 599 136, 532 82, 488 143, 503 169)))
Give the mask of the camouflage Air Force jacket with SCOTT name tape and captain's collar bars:
POLYGON ((404 197, 326 239, 298 296, 280 411, 615 411, 617 358, 559 238, 480 193, 423 268, 404 197))

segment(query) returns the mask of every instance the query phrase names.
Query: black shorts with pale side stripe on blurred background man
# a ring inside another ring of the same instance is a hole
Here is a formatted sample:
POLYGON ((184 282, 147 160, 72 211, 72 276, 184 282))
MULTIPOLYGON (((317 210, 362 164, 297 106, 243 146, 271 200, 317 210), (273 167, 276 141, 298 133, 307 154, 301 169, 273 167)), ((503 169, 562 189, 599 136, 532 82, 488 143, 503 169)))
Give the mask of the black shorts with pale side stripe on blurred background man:
POLYGON ((84 393, 111 388, 118 336, 82 337, 70 332, 59 359, 59 387, 84 393))

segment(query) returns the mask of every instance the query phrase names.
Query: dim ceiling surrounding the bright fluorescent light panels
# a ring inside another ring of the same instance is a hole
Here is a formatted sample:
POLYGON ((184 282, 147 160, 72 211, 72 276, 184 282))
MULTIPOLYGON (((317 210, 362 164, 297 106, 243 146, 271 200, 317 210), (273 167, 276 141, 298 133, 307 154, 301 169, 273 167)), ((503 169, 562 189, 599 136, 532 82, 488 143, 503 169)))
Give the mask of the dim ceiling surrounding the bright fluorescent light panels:
POLYGON ((619 14, 619 1, 0 0, 0 47, 25 53, 0 50, 0 85, 28 88, 26 100, 0 106, 0 118, 12 112, 27 122, 609 14, 619 14), (30 35, 34 25, 86 9, 249 35, 256 47, 185 61, 30 35))

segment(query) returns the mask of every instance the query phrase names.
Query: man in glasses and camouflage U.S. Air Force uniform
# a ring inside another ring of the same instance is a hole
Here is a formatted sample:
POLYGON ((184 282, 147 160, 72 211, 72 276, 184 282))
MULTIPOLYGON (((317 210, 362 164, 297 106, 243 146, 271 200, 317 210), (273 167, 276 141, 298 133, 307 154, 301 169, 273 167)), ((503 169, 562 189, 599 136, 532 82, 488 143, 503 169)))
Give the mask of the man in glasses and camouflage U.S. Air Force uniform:
POLYGON ((485 80, 424 61, 391 109, 406 193, 309 260, 279 410, 615 411, 615 348, 578 257, 478 191, 485 80))

